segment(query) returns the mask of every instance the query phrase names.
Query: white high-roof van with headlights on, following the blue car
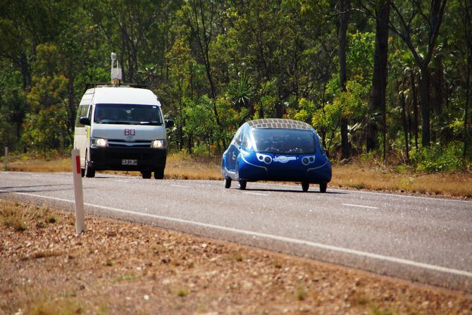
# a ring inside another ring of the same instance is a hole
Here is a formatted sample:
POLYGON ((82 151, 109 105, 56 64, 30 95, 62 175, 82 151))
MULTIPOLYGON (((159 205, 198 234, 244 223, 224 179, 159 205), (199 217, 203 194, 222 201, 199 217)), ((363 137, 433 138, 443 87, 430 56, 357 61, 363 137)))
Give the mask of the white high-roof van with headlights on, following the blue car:
POLYGON ((82 177, 95 171, 140 171, 162 179, 166 168, 166 128, 161 103, 149 89, 87 89, 75 119, 74 148, 80 150, 82 177))

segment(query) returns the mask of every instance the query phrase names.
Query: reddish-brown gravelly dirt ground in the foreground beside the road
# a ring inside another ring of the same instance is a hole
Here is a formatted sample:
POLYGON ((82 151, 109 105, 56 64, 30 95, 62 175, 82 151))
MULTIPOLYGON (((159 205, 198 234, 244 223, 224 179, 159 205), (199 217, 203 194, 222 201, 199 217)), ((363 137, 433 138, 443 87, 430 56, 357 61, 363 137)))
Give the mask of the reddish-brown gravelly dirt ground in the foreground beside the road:
POLYGON ((472 314, 472 295, 0 200, 0 314, 472 314))

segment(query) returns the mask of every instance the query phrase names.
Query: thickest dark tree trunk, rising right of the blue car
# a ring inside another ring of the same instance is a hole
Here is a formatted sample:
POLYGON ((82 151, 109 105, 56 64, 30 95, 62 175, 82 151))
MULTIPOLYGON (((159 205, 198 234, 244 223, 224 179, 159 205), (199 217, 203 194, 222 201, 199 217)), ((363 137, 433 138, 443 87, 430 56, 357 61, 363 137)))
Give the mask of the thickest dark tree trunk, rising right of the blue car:
MULTIPOLYGON (((387 88, 387 57, 388 57, 388 20, 390 18, 390 0, 375 9, 375 53, 373 61, 370 113, 385 112, 385 89, 387 88)), ((378 148, 377 121, 370 117, 367 125, 367 152, 378 148)), ((385 125, 385 121, 382 121, 385 125)))

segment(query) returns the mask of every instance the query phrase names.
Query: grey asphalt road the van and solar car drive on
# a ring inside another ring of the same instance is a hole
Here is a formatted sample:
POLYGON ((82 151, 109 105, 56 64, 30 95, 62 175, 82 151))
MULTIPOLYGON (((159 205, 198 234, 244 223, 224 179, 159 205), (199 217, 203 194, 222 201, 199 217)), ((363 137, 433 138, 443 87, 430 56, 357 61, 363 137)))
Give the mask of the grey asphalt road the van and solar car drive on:
MULTIPOLYGON (((82 183, 88 214, 472 292, 472 202, 101 173, 82 183)), ((0 198, 73 210, 72 174, 0 172, 0 198)))

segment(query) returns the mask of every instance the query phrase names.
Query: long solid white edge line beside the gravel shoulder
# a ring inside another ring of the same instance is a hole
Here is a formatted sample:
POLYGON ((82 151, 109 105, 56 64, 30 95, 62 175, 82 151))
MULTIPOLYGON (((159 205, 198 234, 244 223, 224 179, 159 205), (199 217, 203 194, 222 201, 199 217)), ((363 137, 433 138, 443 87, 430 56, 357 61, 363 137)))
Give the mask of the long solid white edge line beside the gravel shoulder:
MULTIPOLYGON (((9 192, 9 191, 8 190, 0 190, 0 192, 9 192)), ((69 199, 62 199, 62 198, 56 198, 56 197, 47 197, 47 196, 42 196, 40 194, 29 194, 29 193, 26 193, 26 192, 13 192, 13 193, 23 194, 25 196, 31 196, 31 197, 39 197, 39 198, 44 198, 44 199, 58 200, 58 201, 62 201, 62 202, 71 202, 71 203, 74 202, 73 200, 69 200, 69 199)), ((297 240, 297 239, 291 238, 291 237, 284 237, 284 236, 271 235, 271 234, 266 234, 266 233, 252 232, 252 231, 249 231, 249 230, 240 230, 240 229, 237 229, 237 228, 228 228, 226 226, 215 226, 213 224, 201 223, 201 222, 196 222, 196 221, 189 221, 189 220, 184 220, 184 219, 180 219, 180 218, 170 218, 168 216, 157 216, 156 214, 142 214, 142 213, 139 213, 139 212, 136 212, 136 211, 129 211, 129 210, 124 210, 124 209, 113 208, 111 206, 99 206, 98 204, 88 204, 88 203, 84 203, 84 204, 87 205, 87 206, 94 206, 95 208, 105 209, 105 210, 108 210, 108 211, 115 211, 115 212, 119 212, 119 213, 122 213, 122 214, 132 214, 132 215, 135 215, 135 216, 145 216, 145 217, 148 217, 148 218, 157 218, 159 220, 165 220, 165 221, 170 221, 170 222, 192 224, 194 226, 201 226, 201 227, 204 227, 204 228, 213 228, 215 230, 224 230, 224 231, 227 231, 227 232, 238 233, 238 234, 242 234, 242 235, 249 235, 249 236, 252 236, 252 237, 263 237, 263 238, 267 238, 267 239, 270 239, 270 240, 279 240, 279 241, 282 241, 282 242, 289 242, 289 243, 297 244, 297 245, 306 245, 306 246, 320 248, 320 249, 328 249, 328 250, 332 250, 334 252, 341 252, 341 253, 344 253, 344 254, 353 254, 353 255, 356 255, 356 256, 359 256, 359 257, 368 257, 368 258, 372 258, 372 259, 390 261, 390 262, 394 262, 394 263, 397 263, 397 264, 404 264, 404 265, 408 265, 408 266, 425 268, 425 269, 432 270, 432 271, 440 271, 440 272, 444 272, 444 273, 451 273, 451 274, 458 275, 458 276, 465 276, 465 277, 468 277, 468 278, 472 278, 472 272, 468 272, 468 271, 464 271, 464 270, 458 270, 458 269, 452 269, 452 268, 446 268, 446 267, 442 267, 442 266, 435 266, 435 265, 431 265, 431 264, 425 264, 425 263, 421 263, 421 262, 418 262, 418 261, 412 261, 412 260, 408 260, 408 259, 390 257, 390 256, 385 256, 385 255, 380 255, 380 254, 373 254, 373 253, 369 253, 369 252, 362 252, 362 251, 359 251, 359 250, 356 250, 356 249, 349 249, 349 248, 344 248, 344 247, 325 245, 325 244, 321 244, 321 243, 318 243, 318 242, 309 242, 309 241, 306 241, 306 240, 297 240)))

